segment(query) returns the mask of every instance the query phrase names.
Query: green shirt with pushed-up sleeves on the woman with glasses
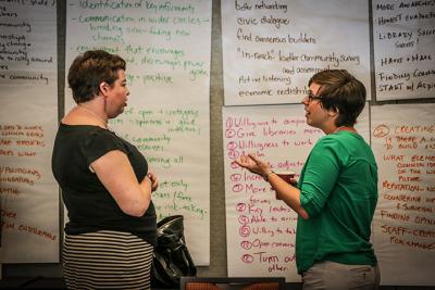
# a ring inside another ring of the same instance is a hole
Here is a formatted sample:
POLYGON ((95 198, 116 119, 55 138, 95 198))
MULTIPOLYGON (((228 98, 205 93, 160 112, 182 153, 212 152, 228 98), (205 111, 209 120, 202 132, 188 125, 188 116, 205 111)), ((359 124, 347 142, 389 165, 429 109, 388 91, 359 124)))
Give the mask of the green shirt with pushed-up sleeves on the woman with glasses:
POLYGON ((377 166, 364 139, 345 130, 322 137, 302 168, 298 187, 301 206, 310 215, 298 218, 298 273, 321 261, 376 265, 370 236, 377 166))

